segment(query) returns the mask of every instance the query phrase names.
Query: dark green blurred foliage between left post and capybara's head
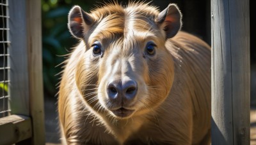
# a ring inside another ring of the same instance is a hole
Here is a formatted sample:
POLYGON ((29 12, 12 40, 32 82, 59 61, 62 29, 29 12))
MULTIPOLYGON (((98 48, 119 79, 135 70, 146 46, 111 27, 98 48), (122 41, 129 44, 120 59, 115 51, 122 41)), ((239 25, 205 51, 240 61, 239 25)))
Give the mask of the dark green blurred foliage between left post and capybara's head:
POLYGON ((70 1, 42 0, 42 42, 43 42, 43 75, 45 95, 54 96, 57 92, 56 76, 61 67, 56 67, 65 58, 58 57, 68 53, 76 39, 72 38, 67 29, 67 15, 72 4, 70 1))

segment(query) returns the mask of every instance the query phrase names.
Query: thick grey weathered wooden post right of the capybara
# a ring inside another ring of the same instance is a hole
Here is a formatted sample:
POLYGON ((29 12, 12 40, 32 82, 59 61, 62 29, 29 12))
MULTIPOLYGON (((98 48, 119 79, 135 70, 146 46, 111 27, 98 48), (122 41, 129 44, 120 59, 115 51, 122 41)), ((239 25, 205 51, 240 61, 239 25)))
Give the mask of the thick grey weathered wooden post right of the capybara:
POLYGON ((249 0, 211 0, 212 144, 250 144, 249 0))

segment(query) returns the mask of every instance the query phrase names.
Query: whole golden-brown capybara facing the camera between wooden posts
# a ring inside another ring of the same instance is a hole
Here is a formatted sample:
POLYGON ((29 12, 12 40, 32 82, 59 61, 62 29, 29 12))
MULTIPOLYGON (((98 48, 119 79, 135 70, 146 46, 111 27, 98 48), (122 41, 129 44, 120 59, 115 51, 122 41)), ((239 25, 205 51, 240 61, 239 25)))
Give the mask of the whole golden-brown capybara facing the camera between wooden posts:
POLYGON ((74 6, 58 96, 63 144, 209 144, 211 48, 175 4, 74 6))

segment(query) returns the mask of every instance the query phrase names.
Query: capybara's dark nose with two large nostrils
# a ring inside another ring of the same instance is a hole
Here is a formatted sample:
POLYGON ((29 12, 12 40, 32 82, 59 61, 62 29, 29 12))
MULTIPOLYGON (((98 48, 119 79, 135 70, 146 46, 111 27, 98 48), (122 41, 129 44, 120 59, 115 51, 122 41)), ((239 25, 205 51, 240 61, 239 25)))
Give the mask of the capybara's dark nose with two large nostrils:
POLYGON ((107 88, 109 99, 122 99, 124 103, 126 100, 132 100, 137 93, 137 83, 132 79, 115 80, 108 84, 107 88))

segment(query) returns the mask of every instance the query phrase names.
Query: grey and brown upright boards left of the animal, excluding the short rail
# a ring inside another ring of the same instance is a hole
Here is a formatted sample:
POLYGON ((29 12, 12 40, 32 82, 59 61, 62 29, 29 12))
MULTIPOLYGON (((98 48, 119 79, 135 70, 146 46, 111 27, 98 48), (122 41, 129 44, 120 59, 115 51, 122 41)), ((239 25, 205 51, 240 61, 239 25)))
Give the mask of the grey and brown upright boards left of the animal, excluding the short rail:
POLYGON ((41 2, 9 0, 12 114, 31 116, 33 144, 45 144, 41 2))

